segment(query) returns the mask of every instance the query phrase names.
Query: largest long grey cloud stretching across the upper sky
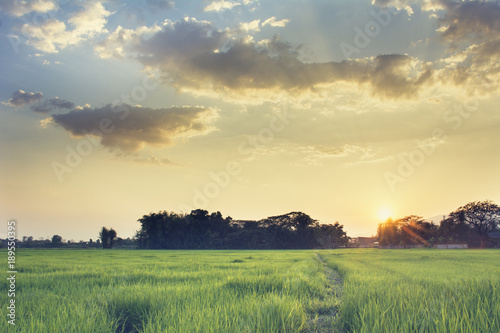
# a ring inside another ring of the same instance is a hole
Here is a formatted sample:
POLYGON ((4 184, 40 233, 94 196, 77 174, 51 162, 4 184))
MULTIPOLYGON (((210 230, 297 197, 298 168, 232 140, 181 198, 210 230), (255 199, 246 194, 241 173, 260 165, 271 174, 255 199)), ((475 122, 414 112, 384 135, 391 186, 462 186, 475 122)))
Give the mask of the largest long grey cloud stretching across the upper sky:
POLYGON ((337 82, 371 84, 385 97, 409 97, 430 78, 431 72, 402 72, 408 56, 378 56, 368 60, 305 63, 300 48, 278 38, 254 42, 209 22, 184 19, 145 33, 117 29, 100 45, 102 55, 128 57, 161 73, 178 90, 202 94, 247 96, 254 92, 291 94, 310 92, 337 82), (110 54, 108 50, 123 50, 110 54))

